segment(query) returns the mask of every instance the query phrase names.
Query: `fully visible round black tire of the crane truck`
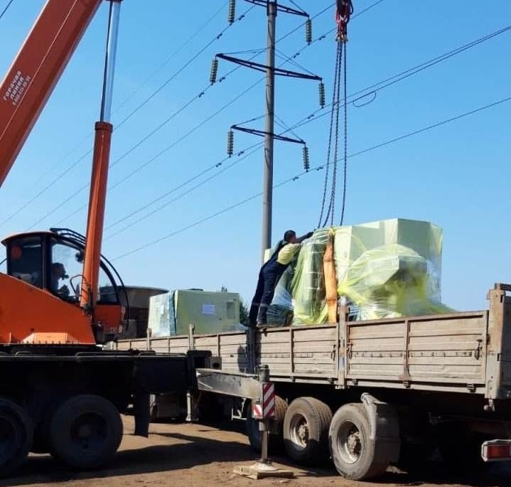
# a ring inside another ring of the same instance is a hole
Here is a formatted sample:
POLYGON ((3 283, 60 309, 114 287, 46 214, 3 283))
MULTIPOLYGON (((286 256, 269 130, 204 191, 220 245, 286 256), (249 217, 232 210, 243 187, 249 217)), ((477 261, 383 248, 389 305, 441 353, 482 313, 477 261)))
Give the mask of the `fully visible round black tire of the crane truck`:
POLYGON ((50 421, 50 452, 76 469, 107 464, 122 440, 117 408, 96 395, 77 395, 63 402, 50 421))

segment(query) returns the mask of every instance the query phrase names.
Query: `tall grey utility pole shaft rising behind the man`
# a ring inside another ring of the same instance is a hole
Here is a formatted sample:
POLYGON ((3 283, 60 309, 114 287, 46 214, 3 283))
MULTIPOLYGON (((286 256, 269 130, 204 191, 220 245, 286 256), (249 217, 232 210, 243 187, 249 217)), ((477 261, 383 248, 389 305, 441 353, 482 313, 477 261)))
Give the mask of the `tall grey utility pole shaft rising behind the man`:
POLYGON ((273 155, 275 118, 275 32, 276 1, 268 1, 268 45, 266 74, 266 132, 264 136, 263 199, 262 199, 262 259, 271 247, 271 215, 273 203, 273 155))

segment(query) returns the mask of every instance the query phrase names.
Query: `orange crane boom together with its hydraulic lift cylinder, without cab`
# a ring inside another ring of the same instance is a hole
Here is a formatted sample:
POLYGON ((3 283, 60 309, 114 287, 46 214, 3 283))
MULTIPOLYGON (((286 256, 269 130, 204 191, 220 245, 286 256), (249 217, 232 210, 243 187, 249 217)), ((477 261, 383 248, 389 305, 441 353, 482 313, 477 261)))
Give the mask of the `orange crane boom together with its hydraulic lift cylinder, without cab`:
MULTIPOLYGON (((48 0, 0 85, 0 186, 103 0, 48 0)), ((101 115, 95 125, 80 306, 95 322, 109 152, 117 29, 122 0, 109 0, 101 115)), ((55 131, 58 137, 58 130, 55 131)))

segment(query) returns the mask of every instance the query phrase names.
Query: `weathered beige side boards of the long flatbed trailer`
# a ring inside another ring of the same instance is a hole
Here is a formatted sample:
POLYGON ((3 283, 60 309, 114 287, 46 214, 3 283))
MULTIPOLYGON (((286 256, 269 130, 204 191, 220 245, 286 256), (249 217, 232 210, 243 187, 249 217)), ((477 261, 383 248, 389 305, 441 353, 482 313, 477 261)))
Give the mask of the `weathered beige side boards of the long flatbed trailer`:
MULTIPOLYGON (((266 364, 274 382, 392 387, 511 398, 511 287, 486 311, 119 341, 118 350, 208 350, 222 370, 266 364)), ((340 313, 340 316, 345 314, 340 313)))

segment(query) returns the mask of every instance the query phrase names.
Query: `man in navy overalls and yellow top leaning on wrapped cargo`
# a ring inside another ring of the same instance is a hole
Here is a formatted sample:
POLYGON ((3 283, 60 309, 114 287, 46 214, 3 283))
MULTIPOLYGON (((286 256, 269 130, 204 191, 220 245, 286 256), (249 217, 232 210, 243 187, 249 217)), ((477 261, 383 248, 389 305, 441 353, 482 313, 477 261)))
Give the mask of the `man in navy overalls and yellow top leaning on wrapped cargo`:
POLYGON ((249 312, 249 326, 265 326, 267 324, 267 311, 275 294, 276 284, 281 275, 289 267, 296 252, 300 250, 301 242, 312 237, 308 232, 303 237, 296 237, 296 232, 288 230, 271 254, 269 260, 261 267, 257 289, 249 312))

